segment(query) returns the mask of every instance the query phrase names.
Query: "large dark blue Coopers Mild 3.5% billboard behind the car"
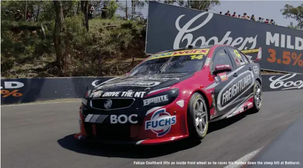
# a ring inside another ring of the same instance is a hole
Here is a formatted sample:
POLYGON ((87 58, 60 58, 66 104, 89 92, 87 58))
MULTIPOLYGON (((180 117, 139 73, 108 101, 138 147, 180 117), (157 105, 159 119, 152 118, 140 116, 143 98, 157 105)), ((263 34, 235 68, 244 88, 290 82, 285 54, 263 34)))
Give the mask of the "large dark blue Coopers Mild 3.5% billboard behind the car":
POLYGON ((147 54, 214 44, 239 50, 262 47, 262 69, 303 73, 301 30, 149 2, 147 54))

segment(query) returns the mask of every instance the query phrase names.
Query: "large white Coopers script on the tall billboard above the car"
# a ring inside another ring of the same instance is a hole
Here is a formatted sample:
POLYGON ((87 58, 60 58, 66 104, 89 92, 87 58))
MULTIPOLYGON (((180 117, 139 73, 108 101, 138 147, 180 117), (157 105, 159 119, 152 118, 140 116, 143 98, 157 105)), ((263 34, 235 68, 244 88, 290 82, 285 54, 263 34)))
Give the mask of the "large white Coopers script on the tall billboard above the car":
POLYGON ((187 45, 185 45, 184 47, 189 46, 189 45, 203 46, 203 45, 208 45, 209 43, 215 44, 215 45, 226 44, 226 45, 230 45, 233 47, 240 45, 240 47, 238 47, 238 50, 243 50, 243 49, 248 50, 248 49, 254 49, 256 47, 258 35, 256 35, 255 37, 247 37, 247 38, 237 37, 237 38, 233 39, 232 37, 229 36, 231 34, 231 31, 227 31, 221 41, 219 41, 218 37, 216 37, 216 36, 210 37, 209 39, 206 39, 204 36, 196 37, 196 39, 193 39, 194 35, 192 34, 192 32, 201 31, 198 29, 200 29, 201 27, 206 25, 211 20, 211 18, 213 18, 214 14, 202 12, 201 14, 198 14, 197 16, 192 18, 187 23, 185 21, 181 21, 182 22, 181 25, 184 25, 184 26, 180 27, 180 24, 179 24, 180 20, 184 16, 185 15, 180 15, 175 21, 176 29, 179 32, 174 39, 173 49, 182 48, 182 47, 180 47, 180 44, 181 44, 181 42, 184 43, 184 41, 187 41, 187 45), (203 15, 207 15, 207 18, 201 22, 199 18, 202 17, 203 15), (193 27, 192 24, 194 22, 196 23, 196 21, 198 19, 199 19, 200 24, 197 25, 196 27, 193 27), (245 46, 247 46, 247 44, 252 44, 252 45, 250 48, 248 48, 248 47, 245 47, 245 46))

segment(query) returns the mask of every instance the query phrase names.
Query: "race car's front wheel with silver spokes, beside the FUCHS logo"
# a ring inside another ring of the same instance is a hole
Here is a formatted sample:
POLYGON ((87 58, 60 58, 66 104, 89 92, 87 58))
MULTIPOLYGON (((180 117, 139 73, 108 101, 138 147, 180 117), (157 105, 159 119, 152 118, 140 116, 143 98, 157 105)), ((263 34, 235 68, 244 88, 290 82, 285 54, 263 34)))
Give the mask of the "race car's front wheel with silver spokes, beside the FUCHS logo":
POLYGON ((187 108, 187 127, 190 139, 202 140, 208 129, 208 108, 203 96, 194 93, 187 108))

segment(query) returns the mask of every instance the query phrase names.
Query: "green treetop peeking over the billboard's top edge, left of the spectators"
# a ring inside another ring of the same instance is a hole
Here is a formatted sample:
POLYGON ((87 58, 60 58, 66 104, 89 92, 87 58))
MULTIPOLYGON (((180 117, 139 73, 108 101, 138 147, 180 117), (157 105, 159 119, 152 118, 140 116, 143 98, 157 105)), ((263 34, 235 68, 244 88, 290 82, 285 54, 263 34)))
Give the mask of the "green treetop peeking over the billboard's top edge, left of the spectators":
POLYGON ((214 6, 220 5, 220 1, 177 1, 180 7, 192 8, 197 10, 211 9, 214 6))

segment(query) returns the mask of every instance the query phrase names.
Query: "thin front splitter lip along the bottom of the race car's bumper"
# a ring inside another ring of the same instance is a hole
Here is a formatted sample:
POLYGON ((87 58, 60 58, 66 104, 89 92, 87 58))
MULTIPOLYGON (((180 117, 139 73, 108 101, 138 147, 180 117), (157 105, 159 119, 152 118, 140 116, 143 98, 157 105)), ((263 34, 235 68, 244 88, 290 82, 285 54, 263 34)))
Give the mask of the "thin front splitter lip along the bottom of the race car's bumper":
POLYGON ((118 141, 118 140, 103 140, 94 137, 86 137, 82 133, 75 134, 74 137, 80 141, 87 141, 87 142, 98 142, 102 144, 130 144, 130 145, 158 145, 169 143, 181 139, 185 139, 188 136, 179 136, 179 137, 171 137, 171 138, 159 138, 159 139, 146 139, 146 140, 139 140, 139 141, 118 141))

